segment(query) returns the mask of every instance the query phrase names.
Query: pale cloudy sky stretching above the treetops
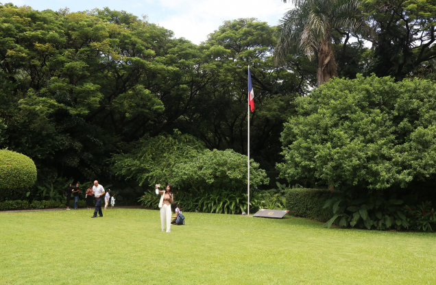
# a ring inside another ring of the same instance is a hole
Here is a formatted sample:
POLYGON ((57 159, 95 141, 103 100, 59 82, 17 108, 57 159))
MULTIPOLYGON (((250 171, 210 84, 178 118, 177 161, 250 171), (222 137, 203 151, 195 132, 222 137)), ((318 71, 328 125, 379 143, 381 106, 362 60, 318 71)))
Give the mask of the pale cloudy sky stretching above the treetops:
POLYGON ((199 44, 223 21, 236 18, 257 18, 269 25, 278 25, 291 4, 282 0, 0 0, 15 5, 28 5, 35 10, 69 8, 71 12, 108 7, 125 10, 136 16, 147 15, 149 22, 171 29, 176 38, 199 44))

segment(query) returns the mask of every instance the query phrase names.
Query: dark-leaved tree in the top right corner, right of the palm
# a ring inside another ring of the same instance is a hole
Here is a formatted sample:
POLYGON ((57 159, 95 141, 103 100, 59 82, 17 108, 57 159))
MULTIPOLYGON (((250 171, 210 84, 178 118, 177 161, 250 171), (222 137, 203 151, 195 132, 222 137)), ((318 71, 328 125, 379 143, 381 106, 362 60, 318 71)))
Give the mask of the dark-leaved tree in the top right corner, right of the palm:
POLYGON ((370 72, 396 80, 431 69, 436 58, 433 0, 367 0, 363 10, 377 33, 370 72))

